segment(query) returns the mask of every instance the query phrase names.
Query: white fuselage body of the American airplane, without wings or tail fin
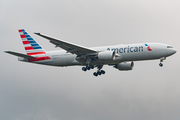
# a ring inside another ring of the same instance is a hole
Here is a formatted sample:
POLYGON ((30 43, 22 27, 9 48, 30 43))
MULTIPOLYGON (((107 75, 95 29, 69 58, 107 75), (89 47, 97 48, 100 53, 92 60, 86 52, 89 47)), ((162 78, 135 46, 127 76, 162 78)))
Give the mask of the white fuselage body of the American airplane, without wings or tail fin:
MULTIPOLYGON (((127 45, 114 45, 93 47, 93 49, 101 51, 115 51, 116 58, 114 60, 92 60, 92 65, 105 65, 105 64, 118 64, 124 61, 139 61, 139 60, 152 60, 168 57, 176 50, 169 45, 160 43, 140 43, 140 44, 127 44, 127 45), (147 46, 148 45, 148 46, 147 46)), ((85 65, 76 60, 77 55, 67 53, 64 50, 47 51, 46 55, 51 59, 43 61, 34 61, 32 63, 52 65, 52 66, 73 66, 85 65)), ((25 58, 19 58, 20 61, 29 62, 25 58)))

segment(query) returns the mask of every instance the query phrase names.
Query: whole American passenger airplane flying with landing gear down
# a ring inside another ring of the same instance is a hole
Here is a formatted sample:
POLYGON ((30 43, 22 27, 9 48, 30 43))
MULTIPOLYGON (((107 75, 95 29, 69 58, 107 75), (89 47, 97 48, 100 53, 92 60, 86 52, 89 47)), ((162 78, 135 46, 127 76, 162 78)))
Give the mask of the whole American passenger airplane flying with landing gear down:
POLYGON ((113 66, 120 71, 132 70, 133 61, 160 59, 162 62, 177 51, 170 45, 161 43, 139 43, 102 47, 84 47, 64 40, 56 39, 41 33, 34 33, 43 37, 60 47, 63 50, 45 51, 24 29, 19 30, 26 54, 13 51, 4 51, 11 55, 18 56, 19 61, 36 63, 50 66, 83 66, 82 70, 87 71, 97 68, 94 76, 105 74, 102 70, 104 65, 113 66))

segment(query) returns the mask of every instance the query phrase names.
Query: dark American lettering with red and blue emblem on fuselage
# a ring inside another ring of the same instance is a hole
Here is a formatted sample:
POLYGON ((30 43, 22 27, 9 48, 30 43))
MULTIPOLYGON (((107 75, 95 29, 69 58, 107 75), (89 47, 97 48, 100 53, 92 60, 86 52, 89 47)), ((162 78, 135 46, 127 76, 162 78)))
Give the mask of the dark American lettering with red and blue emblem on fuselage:
MULTIPOLYGON (((152 49, 145 44, 145 46, 147 46, 147 50, 148 51, 152 51, 152 49)), ((124 48, 107 48, 108 51, 115 51, 116 53, 132 53, 132 52, 143 52, 143 46, 139 46, 139 47, 124 47, 124 48)))

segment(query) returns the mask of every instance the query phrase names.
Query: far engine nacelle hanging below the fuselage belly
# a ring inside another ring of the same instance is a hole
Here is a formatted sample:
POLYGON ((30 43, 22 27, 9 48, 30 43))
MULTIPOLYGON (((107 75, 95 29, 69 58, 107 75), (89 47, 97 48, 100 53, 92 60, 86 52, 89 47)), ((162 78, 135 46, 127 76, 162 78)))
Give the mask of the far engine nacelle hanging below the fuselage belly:
POLYGON ((132 70, 134 67, 134 62, 122 62, 122 63, 118 63, 115 68, 117 68, 118 70, 124 71, 124 70, 132 70))

